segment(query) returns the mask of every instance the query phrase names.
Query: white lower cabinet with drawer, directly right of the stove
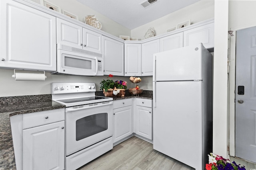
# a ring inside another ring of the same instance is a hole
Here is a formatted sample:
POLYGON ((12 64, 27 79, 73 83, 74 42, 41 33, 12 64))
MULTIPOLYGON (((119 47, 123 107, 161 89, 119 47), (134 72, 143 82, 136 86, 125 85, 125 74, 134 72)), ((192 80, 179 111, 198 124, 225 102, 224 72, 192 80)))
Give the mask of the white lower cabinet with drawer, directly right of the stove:
POLYGON ((132 135, 132 98, 113 102, 113 143, 132 135))

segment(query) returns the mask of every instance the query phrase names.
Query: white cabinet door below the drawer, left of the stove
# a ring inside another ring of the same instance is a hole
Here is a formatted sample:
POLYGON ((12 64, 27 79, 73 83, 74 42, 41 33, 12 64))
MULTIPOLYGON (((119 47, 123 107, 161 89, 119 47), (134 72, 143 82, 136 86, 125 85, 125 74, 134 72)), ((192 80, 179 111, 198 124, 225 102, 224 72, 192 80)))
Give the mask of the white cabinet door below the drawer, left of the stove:
POLYGON ((23 130, 24 170, 64 170, 65 121, 23 130))

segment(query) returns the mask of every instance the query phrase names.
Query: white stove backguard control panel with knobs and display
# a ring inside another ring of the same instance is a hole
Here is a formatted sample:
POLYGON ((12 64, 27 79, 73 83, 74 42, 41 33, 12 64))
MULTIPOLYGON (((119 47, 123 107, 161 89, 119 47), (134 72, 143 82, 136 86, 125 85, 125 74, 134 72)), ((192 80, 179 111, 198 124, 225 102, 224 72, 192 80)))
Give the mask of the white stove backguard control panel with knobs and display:
POLYGON ((52 83, 52 94, 96 92, 95 83, 52 83))

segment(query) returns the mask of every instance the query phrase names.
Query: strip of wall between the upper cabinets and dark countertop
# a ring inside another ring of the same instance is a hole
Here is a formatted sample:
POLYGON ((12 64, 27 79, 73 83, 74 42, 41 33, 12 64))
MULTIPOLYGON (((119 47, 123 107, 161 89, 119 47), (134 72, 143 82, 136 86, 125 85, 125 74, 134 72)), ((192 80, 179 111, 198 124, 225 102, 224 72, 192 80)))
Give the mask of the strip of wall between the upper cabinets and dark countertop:
MULTIPOLYGON (((17 71, 18 72, 18 71, 17 71)), ((68 76, 68 75, 54 75, 46 72, 45 81, 15 81, 12 78, 14 70, 0 69, 0 97, 5 96, 26 96, 51 94, 51 83, 53 82, 94 82, 96 90, 100 90, 100 82, 107 79, 105 76, 68 76)), ((113 76, 112 80, 123 80, 128 83, 127 88, 134 88, 134 84, 130 82, 129 77, 113 76)), ((152 76, 141 77, 142 82, 138 85, 143 90, 152 90, 152 76)))

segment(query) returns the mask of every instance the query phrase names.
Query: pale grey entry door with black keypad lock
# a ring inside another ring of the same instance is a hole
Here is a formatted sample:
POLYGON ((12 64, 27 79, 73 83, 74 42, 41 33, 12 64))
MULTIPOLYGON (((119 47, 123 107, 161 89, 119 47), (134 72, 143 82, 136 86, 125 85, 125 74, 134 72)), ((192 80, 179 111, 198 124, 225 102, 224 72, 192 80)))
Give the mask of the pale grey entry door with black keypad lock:
POLYGON ((256 162, 256 27, 236 34, 235 155, 256 162))

